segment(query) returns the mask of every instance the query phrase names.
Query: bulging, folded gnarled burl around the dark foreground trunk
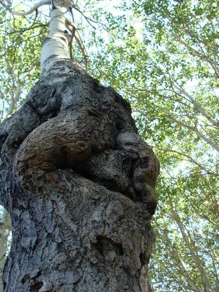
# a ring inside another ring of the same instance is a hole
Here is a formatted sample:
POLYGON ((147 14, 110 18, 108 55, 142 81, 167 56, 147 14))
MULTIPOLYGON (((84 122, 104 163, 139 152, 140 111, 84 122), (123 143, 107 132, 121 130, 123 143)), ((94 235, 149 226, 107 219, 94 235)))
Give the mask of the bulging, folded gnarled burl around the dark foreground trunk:
POLYGON ((14 116, 11 120, 19 116, 24 124, 17 126, 16 133, 12 126, 6 127, 3 136, 10 136, 4 143, 15 154, 14 173, 20 183, 43 172, 72 169, 111 191, 146 203, 154 214, 159 163, 138 136, 128 102, 112 88, 88 75, 55 85, 39 82, 14 116))

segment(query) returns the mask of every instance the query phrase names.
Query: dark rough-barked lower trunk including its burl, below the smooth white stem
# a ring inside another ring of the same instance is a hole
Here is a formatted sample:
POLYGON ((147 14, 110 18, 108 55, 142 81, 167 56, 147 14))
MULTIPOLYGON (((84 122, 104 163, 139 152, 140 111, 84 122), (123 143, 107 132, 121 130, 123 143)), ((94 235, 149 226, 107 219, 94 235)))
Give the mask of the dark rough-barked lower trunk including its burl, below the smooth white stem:
POLYGON ((0 126, 5 292, 146 292, 159 163, 89 75, 38 82, 0 126))

